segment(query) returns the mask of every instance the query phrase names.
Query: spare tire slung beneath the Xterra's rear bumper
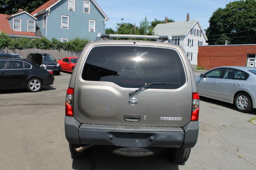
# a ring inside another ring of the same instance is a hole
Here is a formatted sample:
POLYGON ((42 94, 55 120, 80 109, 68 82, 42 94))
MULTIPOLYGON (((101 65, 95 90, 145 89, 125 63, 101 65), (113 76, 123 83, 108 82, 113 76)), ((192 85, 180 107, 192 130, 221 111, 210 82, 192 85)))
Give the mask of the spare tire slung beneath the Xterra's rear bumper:
POLYGON ((157 154, 162 150, 162 148, 135 148, 135 147, 119 147, 119 146, 106 146, 109 152, 122 156, 130 157, 141 157, 150 156, 157 154))

